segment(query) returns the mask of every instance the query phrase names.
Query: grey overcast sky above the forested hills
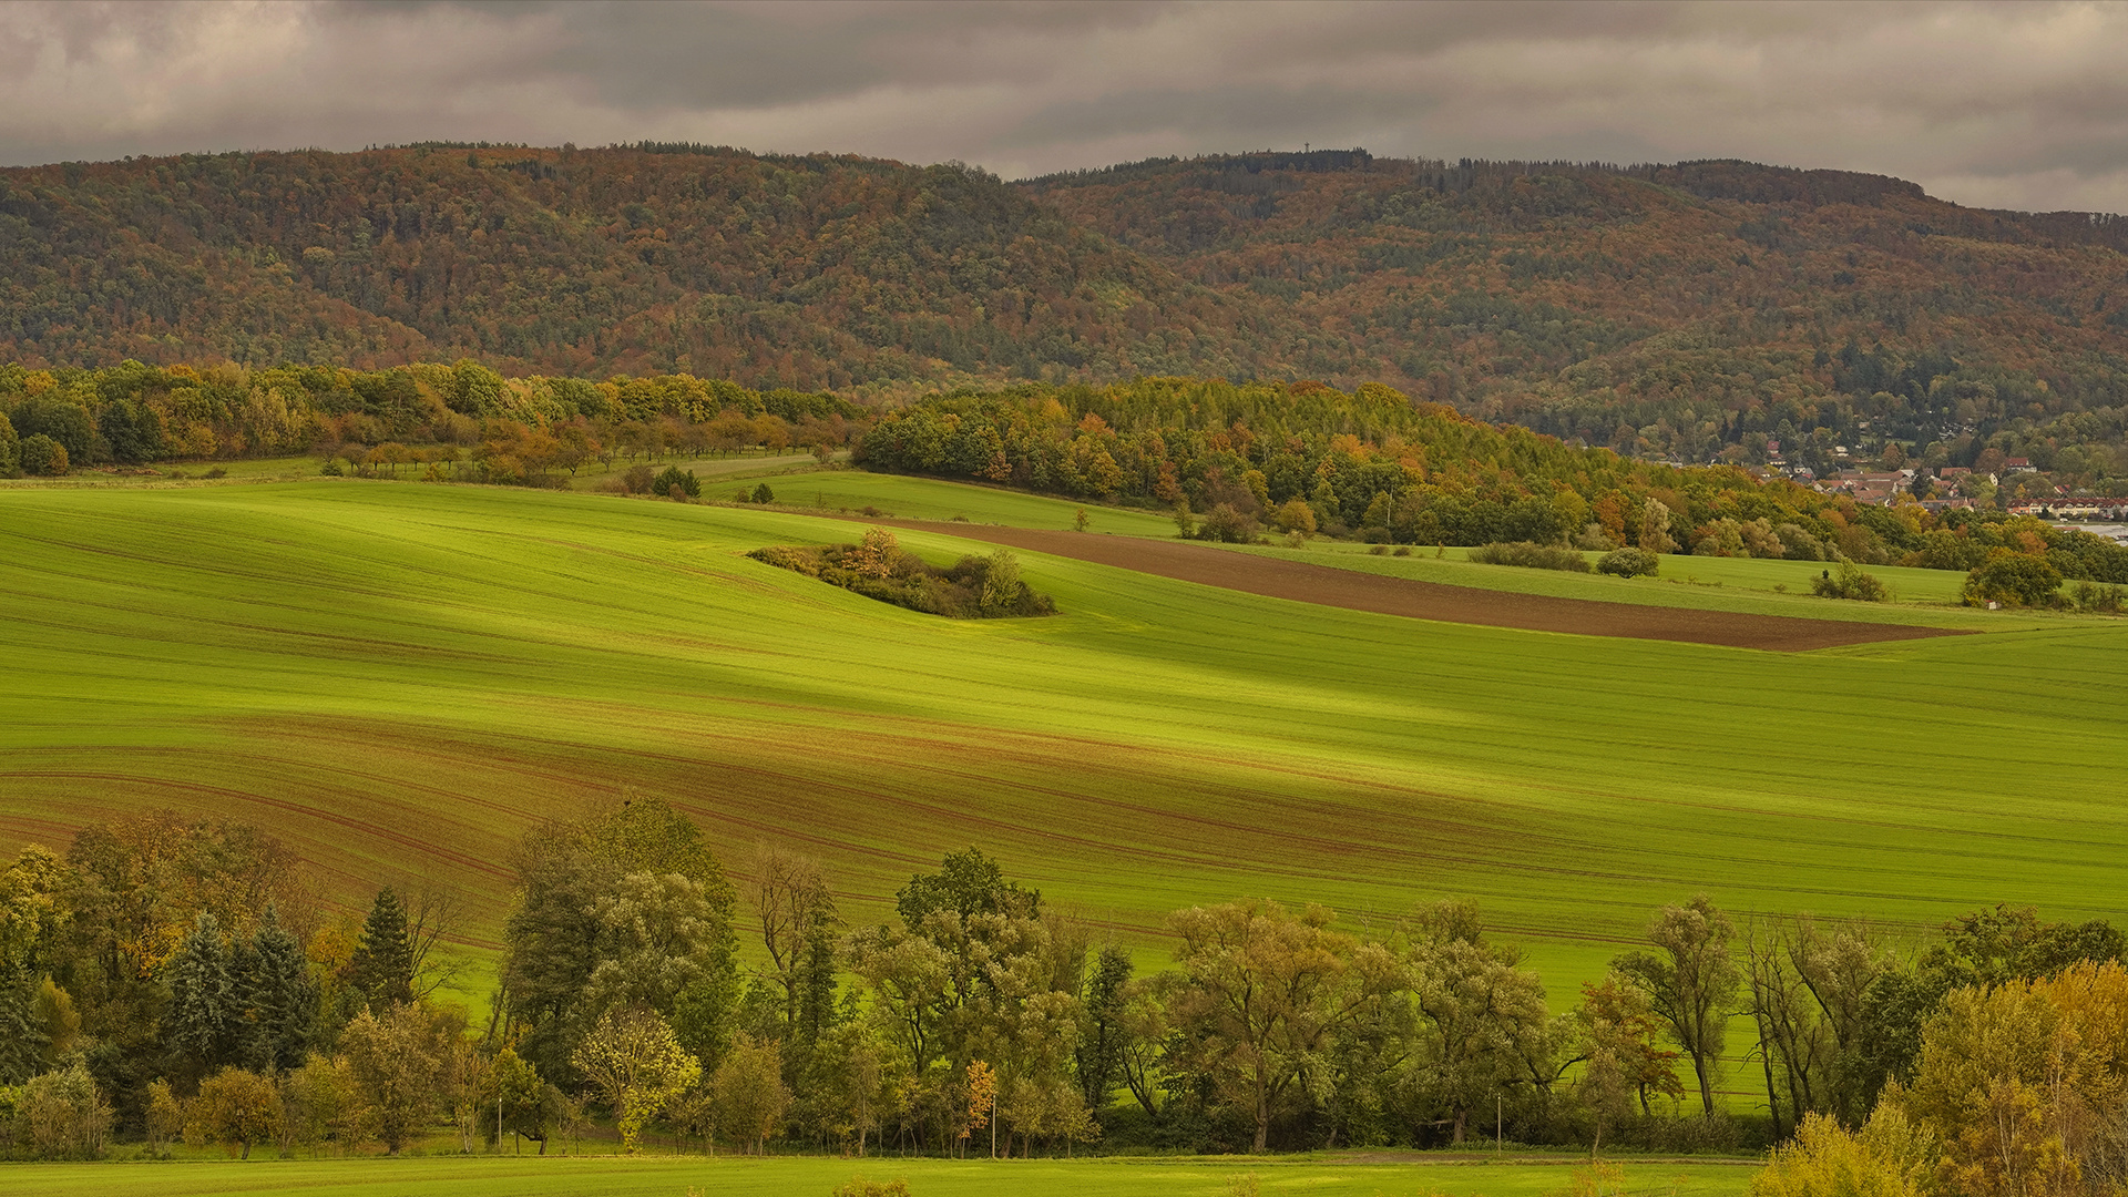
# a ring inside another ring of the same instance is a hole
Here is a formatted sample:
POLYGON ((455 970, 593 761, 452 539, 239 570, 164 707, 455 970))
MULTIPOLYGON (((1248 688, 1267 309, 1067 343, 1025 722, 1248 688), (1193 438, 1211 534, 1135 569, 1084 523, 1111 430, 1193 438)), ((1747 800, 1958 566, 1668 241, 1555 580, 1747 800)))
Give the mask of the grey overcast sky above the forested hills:
POLYGON ((702 141, 1749 158, 2128 213, 2128 4, 0 4, 0 164, 702 141))

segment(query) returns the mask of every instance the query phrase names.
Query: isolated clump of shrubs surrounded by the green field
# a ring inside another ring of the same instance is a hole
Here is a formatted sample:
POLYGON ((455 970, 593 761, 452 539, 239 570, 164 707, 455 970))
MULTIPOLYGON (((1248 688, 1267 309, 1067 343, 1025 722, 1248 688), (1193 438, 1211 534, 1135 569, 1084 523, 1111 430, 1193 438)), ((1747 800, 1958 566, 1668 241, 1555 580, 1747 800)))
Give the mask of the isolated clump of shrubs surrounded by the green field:
POLYGON ((1019 560, 1009 550, 964 556, 947 569, 926 564, 904 552, 894 532, 870 528, 855 545, 766 547, 747 554, 758 562, 817 577, 866 598, 947 616, 951 620, 1002 620, 1009 616, 1055 616, 1055 603, 1019 579, 1019 560))

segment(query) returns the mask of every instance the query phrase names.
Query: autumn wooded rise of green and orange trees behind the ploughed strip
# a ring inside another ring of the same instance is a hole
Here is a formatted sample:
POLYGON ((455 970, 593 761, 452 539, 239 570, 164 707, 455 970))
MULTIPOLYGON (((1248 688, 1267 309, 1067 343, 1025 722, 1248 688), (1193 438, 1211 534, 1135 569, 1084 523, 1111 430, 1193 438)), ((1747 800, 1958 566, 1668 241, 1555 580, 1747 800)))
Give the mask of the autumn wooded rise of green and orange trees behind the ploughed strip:
POLYGON ((1138 379, 945 396, 883 413, 858 460, 1175 507, 1207 539, 1300 526, 1424 545, 1636 545, 1958 571, 2011 552, 2043 558, 2056 581, 2128 581, 2128 550, 2090 532, 2000 509, 1873 507, 1741 469, 1641 462, 1415 405, 1377 383, 1345 394, 1138 379))

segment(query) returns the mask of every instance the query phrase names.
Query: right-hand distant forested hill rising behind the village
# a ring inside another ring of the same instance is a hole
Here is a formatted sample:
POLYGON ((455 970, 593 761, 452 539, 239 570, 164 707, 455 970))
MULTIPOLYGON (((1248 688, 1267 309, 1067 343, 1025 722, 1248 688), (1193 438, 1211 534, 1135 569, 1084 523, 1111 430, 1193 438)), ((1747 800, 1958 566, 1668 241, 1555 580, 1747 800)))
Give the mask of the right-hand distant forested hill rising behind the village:
POLYGON ((1898 439, 1971 464, 1990 437, 2051 458, 2119 445, 2128 424, 2119 217, 1975 211, 1898 179, 1745 162, 1362 151, 1024 187, 1300 315, 1311 334, 1290 356, 1311 377, 1385 379, 1624 452, 1756 460, 1773 439, 1822 466, 1832 445, 1898 439), (2085 411, 2100 413, 2060 420, 2085 411))

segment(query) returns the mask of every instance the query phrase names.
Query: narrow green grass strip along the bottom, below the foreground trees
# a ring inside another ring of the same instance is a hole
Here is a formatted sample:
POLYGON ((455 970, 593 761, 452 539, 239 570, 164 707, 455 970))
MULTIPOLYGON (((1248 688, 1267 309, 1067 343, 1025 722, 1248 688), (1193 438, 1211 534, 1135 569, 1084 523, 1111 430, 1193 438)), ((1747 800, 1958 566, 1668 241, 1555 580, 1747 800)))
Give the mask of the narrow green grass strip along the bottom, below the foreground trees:
MULTIPOLYGON (((0 1165, 0 1186, 45 1197, 828 1197, 853 1176, 907 1180, 911 1197, 1547 1197, 1566 1193, 1575 1163, 1385 1163, 1356 1159, 328 1159, 245 1163, 0 1165)), ((1626 1161, 1632 1197, 1736 1197, 1736 1163, 1626 1161)))

